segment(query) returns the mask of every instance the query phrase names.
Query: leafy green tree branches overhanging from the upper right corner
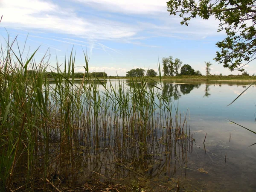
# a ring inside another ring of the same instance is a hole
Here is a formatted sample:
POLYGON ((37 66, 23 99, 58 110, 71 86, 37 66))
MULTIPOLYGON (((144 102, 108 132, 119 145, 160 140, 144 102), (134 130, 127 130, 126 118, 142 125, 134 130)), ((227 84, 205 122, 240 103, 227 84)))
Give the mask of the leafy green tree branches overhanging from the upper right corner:
POLYGON ((215 61, 233 71, 243 71, 244 65, 256 58, 256 0, 169 0, 170 15, 179 14, 181 25, 188 25, 197 16, 220 21, 218 32, 227 37, 216 43, 220 51, 215 61))

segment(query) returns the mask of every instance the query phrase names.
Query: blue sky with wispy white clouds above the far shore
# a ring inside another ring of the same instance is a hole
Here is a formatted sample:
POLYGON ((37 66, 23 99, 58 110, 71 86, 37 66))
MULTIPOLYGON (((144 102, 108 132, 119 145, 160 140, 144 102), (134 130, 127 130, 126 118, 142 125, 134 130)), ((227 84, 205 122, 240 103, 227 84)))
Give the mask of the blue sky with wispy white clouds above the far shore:
MULTIPOLYGON (((26 58, 39 47, 35 60, 46 55, 49 67, 63 66, 66 55, 76 53, 75 71, 84 72, 87 52, 90 72, 125 76, 135 68, 154 69, 163 57, 179 58, 183 64, 205 75, 205 61, 212 74, 230 72, 215 63, 215 43, 225 38, 217 32, 213 17, 197 17, 181 26, 178 16, 169 15, 167 0, 0 0, 0 43, 14 44, 26 58)), ((256 63, 244 69, 256 73, 256 63)))

